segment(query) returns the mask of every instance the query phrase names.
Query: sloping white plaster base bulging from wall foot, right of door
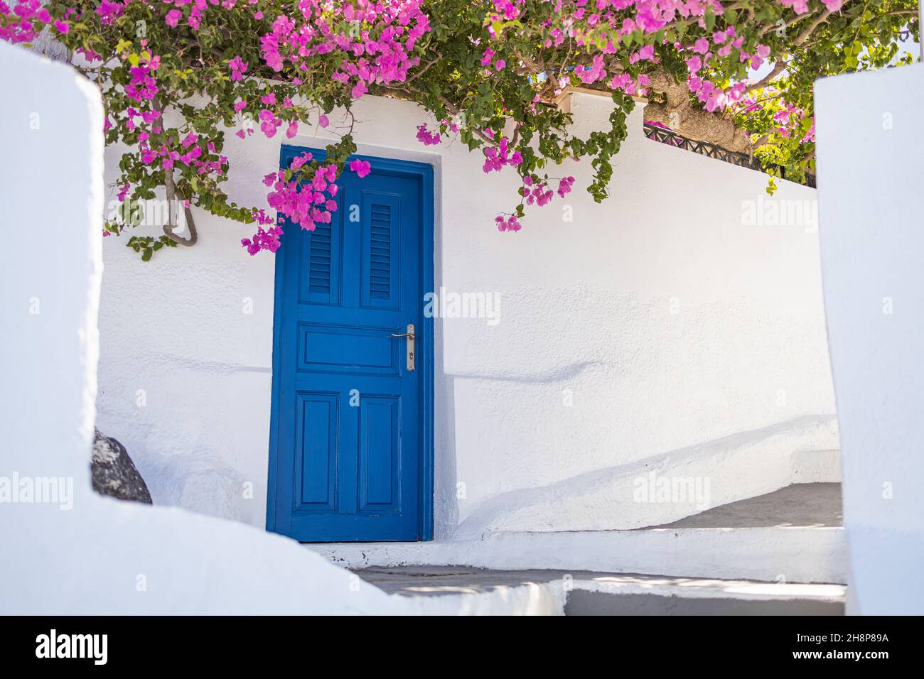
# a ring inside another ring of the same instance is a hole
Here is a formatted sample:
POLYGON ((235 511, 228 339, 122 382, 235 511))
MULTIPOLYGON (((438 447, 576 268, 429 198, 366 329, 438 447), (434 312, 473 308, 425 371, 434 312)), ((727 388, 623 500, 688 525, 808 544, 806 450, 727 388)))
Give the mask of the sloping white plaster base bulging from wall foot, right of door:
POLYGON ((668 524, 792 483, 838 481, 837 448, 836 418, 796 418, 548 486, 501 493, 481 503, 455 537, 668 524), (809 464, 807 456, 812 458, 809 464), (819 457, 821 464, 811 464, 819 457), (653 488, 661 479, 667 479, 679 496, 657 502, 653 488))

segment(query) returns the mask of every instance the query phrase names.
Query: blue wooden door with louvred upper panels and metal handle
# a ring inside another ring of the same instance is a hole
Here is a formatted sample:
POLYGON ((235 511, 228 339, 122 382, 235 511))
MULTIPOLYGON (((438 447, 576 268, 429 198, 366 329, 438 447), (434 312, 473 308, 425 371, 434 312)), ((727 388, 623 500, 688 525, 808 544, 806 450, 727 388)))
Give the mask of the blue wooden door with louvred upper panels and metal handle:
MULTIPOLYGON (((284 146, 282 166, 305 151, 284 146)), ((432 169, 360 157, 372 172, 337 180, 331 224, 287 224, 276 253, 267 527, 304 542, 430 540, 432 169), (393 336, 408 325, 413 370, 393 336)))

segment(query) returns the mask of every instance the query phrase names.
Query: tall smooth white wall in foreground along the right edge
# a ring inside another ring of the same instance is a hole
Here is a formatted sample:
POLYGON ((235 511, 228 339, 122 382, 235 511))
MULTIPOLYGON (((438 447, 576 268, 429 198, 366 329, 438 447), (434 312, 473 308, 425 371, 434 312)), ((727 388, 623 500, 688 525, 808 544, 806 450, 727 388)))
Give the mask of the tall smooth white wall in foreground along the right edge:
POLYGON ((816 85, 821 266, 844 448, 848 612, 924 612, 924 65, 816 85))

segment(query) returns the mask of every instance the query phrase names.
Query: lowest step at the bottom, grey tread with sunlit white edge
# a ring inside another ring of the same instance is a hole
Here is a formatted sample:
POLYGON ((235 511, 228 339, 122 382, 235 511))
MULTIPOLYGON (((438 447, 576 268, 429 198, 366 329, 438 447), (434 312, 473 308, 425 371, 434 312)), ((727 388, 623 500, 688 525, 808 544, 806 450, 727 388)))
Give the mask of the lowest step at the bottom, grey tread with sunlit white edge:
POLYGON ((457 566, 356 573, 433 614, 842 615, 845 600, 840 585, 457 566))

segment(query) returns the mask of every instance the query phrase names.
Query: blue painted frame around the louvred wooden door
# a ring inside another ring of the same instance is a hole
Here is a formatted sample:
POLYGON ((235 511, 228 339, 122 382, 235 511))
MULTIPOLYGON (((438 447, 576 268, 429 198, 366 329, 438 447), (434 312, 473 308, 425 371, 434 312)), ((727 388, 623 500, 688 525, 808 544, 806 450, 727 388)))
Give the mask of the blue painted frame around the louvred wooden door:
MULTIPOLYGON (((291 160, 303 152, 310 152, 314 160, 323 160, 327 152, 309 146, 295 146, 283 144, 279 152, 280 168, 288 167, 291 160)), ((420 181, 420 289, 425 293, 432 292, 433 287, 433 261, 435 258, 434 226, 433 226, 433 200, 435 185, 433 184, 433 166, 415 161, 399 160, 396 158, 382 158, 380 156, 354 153, 349 160, 359 159, 368 161, 373 171, 385 175, 409 176, 420 181)), ((347 161, 348 162, 348 161, 347 161)), ((348 172, 348 170, 345 171, 348 172)), ((291 228, 290 224, 290 228, 291 228)), ((285 238, 286 235, 283 235, 285 238)), ((266 529, 276 532, 276 477, 279 470, 279 455, 277 442, 279 438, 279 392, 282 389, 282 328, 283 308, 276 302, 282 296, 284 281, 285 258, 275 256, 275 281, 273 292, 273 374, 270 405, 270 444, 269 444, 269 470, 266 482, 266 529)), ((420 303, 420 328, 417 331, 422 355, 418 351, 417 370, 421 371, 422 387, 420 390, 419 411, 419 515, 417 520, 419 540, 433 539, 433 319, 423 313, 423 298, 420 303)), ((295 464, 293 459, 293 465, 295 464)), ((294 471, 292 472, 294 474, 294 471)))

